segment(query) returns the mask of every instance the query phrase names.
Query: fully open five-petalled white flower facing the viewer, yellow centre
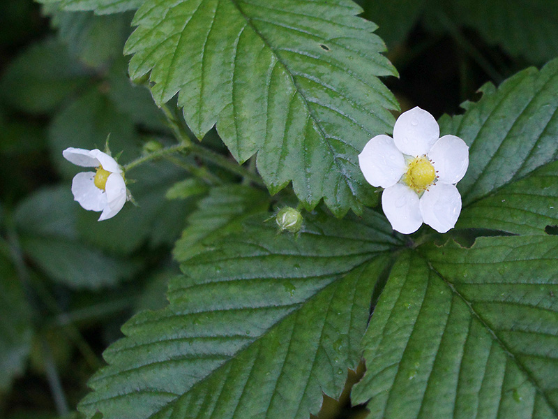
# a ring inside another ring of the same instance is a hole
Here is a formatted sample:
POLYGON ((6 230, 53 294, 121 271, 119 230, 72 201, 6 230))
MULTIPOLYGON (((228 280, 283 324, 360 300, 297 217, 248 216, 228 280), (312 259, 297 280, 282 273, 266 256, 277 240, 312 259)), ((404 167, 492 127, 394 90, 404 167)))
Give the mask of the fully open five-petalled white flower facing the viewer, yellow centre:
POLYGON ((365 179, 385 188, 382 208, 393 230, 414 233, 427 223, 439 233, 455 226, 461 196, 455 184, 469 166, 469 147, 455 135, 439 138, 439 126, 421 108, 403 112, 393 138, 376 135, 359 154, 365 179))

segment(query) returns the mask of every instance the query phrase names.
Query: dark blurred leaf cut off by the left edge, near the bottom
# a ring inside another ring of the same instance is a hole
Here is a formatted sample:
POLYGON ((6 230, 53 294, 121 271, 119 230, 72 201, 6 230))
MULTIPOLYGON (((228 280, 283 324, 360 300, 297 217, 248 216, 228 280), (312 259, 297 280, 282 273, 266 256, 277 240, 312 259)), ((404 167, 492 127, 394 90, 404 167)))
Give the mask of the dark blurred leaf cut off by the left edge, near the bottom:
POLYGON ((31 309, 20 279, 10 262, 0 256, 0 395, 9 390, 13 378, 22 374, 33 329, 31 309))

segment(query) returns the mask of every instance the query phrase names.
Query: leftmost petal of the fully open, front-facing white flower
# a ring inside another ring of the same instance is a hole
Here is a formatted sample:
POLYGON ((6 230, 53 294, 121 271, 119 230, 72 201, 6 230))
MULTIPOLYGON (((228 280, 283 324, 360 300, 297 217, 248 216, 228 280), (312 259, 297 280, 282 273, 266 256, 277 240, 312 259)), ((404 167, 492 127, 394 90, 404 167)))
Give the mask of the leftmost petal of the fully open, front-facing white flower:
POLYGON ((359 165, 366 181, 382 188, 396 184, 407 171, 405 157, 387 135, 376 135, 366 143, 359 154, 359 165))

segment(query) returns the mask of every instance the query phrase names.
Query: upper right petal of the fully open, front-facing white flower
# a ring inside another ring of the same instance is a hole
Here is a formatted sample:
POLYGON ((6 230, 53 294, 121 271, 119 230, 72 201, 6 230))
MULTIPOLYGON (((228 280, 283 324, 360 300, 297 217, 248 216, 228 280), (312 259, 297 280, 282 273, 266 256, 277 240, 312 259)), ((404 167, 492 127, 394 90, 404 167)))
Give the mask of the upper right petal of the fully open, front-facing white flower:
POLYGON ((469 147, 455 135, 444 135, 432 145, 428 159, 432 160, 439 182, 456 184, 469 167, 469 147))

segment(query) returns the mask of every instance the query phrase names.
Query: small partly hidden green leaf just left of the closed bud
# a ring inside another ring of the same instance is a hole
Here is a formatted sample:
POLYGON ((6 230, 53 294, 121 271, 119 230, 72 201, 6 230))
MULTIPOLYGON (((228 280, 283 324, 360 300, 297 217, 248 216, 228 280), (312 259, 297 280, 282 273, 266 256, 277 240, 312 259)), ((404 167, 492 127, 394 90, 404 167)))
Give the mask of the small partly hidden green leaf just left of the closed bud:
POLYGON ((240 230, 242 222, 253 214, 269 209, 269 196, 242 185, 211 189, 197 211, 188 219, 188 228, 174 247, 174 258, 184 262, 204 249, 204 243, 240 230))

